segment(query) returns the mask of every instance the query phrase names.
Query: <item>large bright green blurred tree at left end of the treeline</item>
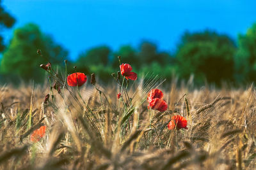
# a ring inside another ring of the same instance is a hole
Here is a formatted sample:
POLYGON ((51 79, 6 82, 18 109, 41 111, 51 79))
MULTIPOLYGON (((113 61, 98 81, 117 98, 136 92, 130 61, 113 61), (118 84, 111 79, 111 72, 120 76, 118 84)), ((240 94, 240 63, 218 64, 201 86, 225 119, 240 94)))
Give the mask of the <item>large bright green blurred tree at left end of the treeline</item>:
POLYGON ((20 76, 24 80, 42 81, 45 72, 39 67, 40 64, 48 61, 52 65, 61 64, 67 54, 67 50, 43 34, 37 25, 27 24, 14 31, 10 45, 3 53, 1 73, 20 76), (36 54, 38 49, 44 57, 36 54))

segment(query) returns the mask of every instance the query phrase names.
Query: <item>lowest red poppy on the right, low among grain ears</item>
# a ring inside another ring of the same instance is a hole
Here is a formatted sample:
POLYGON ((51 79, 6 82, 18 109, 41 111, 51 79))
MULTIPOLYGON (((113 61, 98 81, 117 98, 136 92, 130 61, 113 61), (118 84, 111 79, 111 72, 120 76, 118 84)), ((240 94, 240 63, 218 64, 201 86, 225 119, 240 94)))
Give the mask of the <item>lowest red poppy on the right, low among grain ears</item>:
POLYGON ((180 116, 180 115, 175 115, 172 117, 172 120, 168 124, 168 129, 188 129, 187 127, 187 120, 186 118, 180 116))

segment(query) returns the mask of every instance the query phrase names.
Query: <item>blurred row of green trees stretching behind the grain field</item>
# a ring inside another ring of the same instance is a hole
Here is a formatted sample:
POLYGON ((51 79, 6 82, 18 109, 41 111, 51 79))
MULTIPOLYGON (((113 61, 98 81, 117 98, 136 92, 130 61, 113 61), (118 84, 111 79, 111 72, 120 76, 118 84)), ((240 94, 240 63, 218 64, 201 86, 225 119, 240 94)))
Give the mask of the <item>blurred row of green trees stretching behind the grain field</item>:
POLYGON ((173 53, 160 51, 157 45, 143 41, 137 48, 120 46, 117 51, 109 46, 97 46, 81 53, 76 61, 68 59, 68 51, 53 41, 51 36, 40 31, 35 24, 27 24, 13 32, 10 44, 3 51, 1 78, 5 81, 36 82, 45 80, 45 71, 40 64, 48 61, 63 71, 64 60, 68 60, 68 73, 76 71, 87 75, 95 73, 101 81, 111 80, 111 73, 119 70, 117 56, 122 62, 131 64, 138 76, 147 73, 159 74, 172 80, 173 75, 180 80, 194 76, 195 83, 205 81, 221 85, 223 81, 245 84, 256 80, 256 24, 246 34, 240 34, 237 41, 226 34, 205 30, 185 32, 173 53), (37 55, 40 49, 42 56, 37 55))

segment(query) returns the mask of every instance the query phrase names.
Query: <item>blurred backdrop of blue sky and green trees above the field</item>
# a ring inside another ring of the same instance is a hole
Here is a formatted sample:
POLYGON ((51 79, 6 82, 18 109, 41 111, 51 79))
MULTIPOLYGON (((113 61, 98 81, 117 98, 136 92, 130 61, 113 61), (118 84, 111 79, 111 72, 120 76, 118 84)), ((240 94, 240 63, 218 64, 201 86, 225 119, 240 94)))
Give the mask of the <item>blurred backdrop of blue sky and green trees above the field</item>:
POLYGON ((40 64, 68 73, 159 74, 196 85, 256 80, 255 0, 0 0, 0 83, 45 81, 40 64), (40 49, 44 57, 37 55, 40 49))

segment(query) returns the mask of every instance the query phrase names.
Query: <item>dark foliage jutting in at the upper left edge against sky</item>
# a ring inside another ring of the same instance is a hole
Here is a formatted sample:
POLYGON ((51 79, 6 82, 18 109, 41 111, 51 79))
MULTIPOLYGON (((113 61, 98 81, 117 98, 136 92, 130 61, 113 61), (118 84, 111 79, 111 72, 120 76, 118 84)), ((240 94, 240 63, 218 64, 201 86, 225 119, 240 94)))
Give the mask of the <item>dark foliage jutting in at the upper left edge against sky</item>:
MULTIPOLYGON (((15 18, 13 18, 10 13, 4 10, 3 6, 1 6, 0 0, 0 29, 3 30, 5 28, 10 28, 14 25, 14 23, 15 18)), ((5 48, 3 40, 3 37, 0 35, 0 52, 3 52, 5 48)))

